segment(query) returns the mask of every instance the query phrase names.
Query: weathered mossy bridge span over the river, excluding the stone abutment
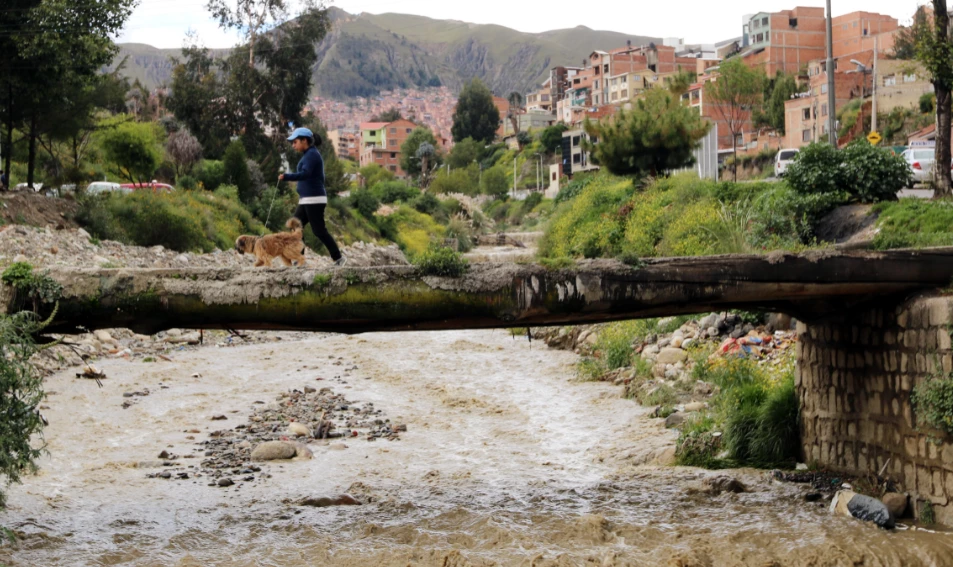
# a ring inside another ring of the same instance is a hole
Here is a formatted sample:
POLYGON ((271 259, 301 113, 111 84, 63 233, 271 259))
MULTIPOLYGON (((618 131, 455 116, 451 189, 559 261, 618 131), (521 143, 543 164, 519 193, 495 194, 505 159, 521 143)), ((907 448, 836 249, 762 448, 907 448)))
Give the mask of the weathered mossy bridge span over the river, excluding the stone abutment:
MULTIPOLYGON (((819 321, 884 297, 950 285, 953 248, 614 260, 549 270, 474 264, 460 278, 410 266, 51 269, 64 288, 51 332, 127 327, 368 331, 568 325, 720 311, 819 321)), ((11 307, 9 290, 0 309, 11 307)))

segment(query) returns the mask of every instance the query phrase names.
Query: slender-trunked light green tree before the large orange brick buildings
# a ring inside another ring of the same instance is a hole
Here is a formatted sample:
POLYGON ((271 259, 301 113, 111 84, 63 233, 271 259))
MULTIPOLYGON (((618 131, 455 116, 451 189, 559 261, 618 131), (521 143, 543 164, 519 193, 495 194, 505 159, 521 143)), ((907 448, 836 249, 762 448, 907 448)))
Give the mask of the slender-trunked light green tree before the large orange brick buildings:
POLYGON ((718 76, 705 85, 704 96, 715 107, 731 133, 732 168, 738 180, 738 135, 751 124, 753 112, 764 100, 764 71, 751 69, 739 57, 729 59, 718 68, 718 76))

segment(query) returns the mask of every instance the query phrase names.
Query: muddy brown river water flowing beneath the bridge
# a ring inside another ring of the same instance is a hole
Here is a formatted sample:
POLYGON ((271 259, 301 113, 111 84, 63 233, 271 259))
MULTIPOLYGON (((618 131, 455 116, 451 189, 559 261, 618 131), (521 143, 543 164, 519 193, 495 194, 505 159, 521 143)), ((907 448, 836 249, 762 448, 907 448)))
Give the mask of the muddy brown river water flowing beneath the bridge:
POLYGON ((22 537, 0 563, 953 565, 953 535, 831 516, 765 471, 728 471, 746 493, 699 492, 724 473, 652 464, 674 433, 618 387, 577 381, 575 361, 505 331, 455 331, 108 360, 102 388, 61 372, 47 383, 50 455, 9 488, 0 524, 22 537), (343 450, 316 441, 313 460, 263 464, 270 477, 228 488, 136 467, 163 449, 190 453, 208 432, 246 423, 256 401, 316 384, 372 402, 407 432, 343 450), (122 394, 143 388, 150 395, 124 409, 122 394), (343 492, 365 504, 296 504, 343 492))

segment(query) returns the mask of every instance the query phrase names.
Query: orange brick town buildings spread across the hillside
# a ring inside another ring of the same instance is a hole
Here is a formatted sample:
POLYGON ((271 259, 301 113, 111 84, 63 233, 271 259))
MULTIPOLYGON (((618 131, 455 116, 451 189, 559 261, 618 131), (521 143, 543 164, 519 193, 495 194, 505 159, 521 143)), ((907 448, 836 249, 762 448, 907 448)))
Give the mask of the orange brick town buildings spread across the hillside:
MULTIPOLYGON (((826 61, 826 17, 823 8, 798 6, 778 12, 744 15, 740 35, 713 44, 690 44, 683 38, 665 38, 662 44, 615 46, 593 51, 582 65, 564 62, 549 71, 538 89, 520 93, 522 104, 511 111, 512 95, 494 98, 500 112, 498 135, 512 138, 519 131, 539 131, 565 124, 562 163, 554 178, 588 170, 588 156, 580 141, 587 135, 586 120, 600 120, 633 103, 656 85, 666 85, 678 75, 690 74, 691 84, 681 95, 685 104, 714 124, 719 162, 740 155, 801 148, 828 138, 829 97, 826 61), (711 101, 708 91, 718 81, 719 66, 737 58, 752 69, 761 69, 770 80, 792 76, 797 93, 784 102, 783 128, 757 120, 755 113, 711 101), (514 130, 514 127, 516 128, 514 130)), ((922 65, 897 57, 896 40, 904 29, 894 17, 851 12, 832 19, 835 113, 849 104, 860 105, 861 119, 838 138, 844 146, 866 137, 863 116, 889 113, 915 106, 933 86, 922 65), (879 109, 879 110, 877 110, 879 109)), ((726 35, 731 36, 730 32, 726 35)), ((507 93, 496 93, 506 95, 507 93)), ((427 90, 382 92, 372 99, 353 103, 315 99, 312 108, 328 124, 330 136, 341 157, 361 165, 378 163, 398 177, 398 153, 406 133, 414 125, 430 128, 443 144, 449 144, 455 99, 446 87, 427 90), (367 118, 384 110, 401 111, 404 122, 386 124, 367 118), (390 136, 388 136, 390 134, 390 136), (388 151, 389 150, 389 151, 388 151)), ((913 145, 929 145, 935 128, 916 132, 913 145)))

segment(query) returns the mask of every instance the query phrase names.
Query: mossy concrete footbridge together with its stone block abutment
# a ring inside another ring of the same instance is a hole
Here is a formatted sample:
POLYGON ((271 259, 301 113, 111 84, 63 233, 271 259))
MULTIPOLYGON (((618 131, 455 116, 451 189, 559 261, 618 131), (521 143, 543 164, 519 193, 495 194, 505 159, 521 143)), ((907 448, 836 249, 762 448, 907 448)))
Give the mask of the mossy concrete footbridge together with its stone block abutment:
MULTIPOLYGON (((461 278, 413 267, 77 270, 48 329, 296 329, 360 333, 563 325, 721 311, 781 311, 799 323, 804 458, 884 471, 953 525, 953 440, 917 421, 915 385, 953 372, 953 248, 812 251, 477 264, 461 278), (939 442, 937 442, 939 440, 939 442)), ((0 289, 0 310, 17 303, 0 289)))

